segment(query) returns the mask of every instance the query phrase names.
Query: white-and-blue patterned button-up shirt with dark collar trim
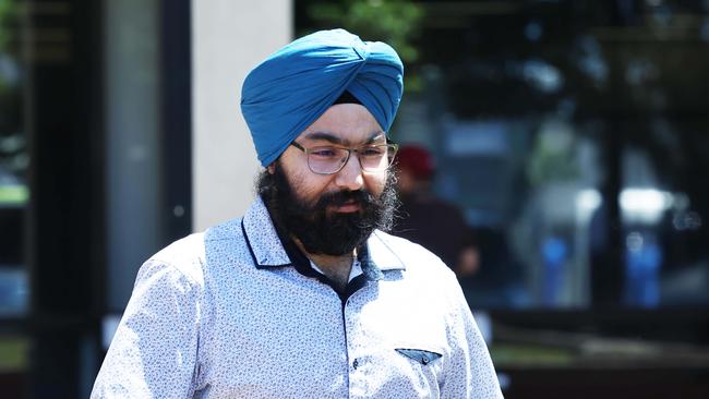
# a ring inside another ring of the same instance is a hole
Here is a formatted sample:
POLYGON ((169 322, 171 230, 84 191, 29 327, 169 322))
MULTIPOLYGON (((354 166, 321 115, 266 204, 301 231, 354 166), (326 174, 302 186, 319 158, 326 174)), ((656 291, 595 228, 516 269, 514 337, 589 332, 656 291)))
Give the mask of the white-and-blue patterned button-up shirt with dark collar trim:
POLYGON ((435 255, 375 231, 359 262, 336 292, 256 200, 141 267, 92 397, 502 397, 435 255))

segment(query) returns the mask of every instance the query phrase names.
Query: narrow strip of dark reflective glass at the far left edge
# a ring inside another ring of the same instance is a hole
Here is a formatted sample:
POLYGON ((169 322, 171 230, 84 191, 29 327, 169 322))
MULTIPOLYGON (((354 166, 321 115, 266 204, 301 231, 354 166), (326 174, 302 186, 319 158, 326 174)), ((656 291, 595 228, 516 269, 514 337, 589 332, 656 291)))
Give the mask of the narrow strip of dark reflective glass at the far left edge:
POLYGON ((0 386, 10 396, 24 392, 29 359, 29 340, 17 323, 28 312, 22 21, 19 1, 0 0, 0 386))

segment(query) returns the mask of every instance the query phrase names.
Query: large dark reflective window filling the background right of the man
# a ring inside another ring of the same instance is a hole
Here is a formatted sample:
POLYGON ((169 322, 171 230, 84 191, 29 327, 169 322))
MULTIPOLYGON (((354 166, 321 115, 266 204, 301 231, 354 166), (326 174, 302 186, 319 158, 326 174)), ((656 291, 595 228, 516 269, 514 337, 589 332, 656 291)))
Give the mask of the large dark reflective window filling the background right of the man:
POLYGON ((471 306, 709 304, 707 1, 328 4, 297 2, 297 31, 407 49, 392 134, 472 231, 471 306))

